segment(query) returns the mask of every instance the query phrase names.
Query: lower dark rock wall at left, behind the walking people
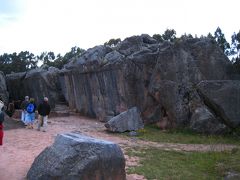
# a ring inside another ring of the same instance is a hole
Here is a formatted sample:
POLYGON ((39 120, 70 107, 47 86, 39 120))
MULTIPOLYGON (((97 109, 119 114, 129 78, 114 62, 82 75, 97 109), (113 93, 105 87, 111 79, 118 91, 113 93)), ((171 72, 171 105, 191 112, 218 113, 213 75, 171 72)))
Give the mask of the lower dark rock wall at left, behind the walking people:
POLYGON ((34 69, 29 72, 9 74, 6 77, 10 99, 24 100, 28 95, 38 104, 44 96, 49 98, 52 107, 61 99, 59 70, 56 68, 34 69))

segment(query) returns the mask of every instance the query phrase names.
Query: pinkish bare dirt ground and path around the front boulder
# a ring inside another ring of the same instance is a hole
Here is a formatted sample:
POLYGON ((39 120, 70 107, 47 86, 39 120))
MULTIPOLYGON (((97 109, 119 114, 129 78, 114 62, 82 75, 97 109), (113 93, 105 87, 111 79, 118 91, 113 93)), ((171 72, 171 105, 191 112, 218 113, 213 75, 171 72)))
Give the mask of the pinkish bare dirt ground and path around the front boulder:
MULTIPOLYGON (((222 151, 231 150, 233 145, 194 145, 154 143, 137 140, 134 137, 120 137, 107 133, 104 123, 95 119, 80 116, 50 118, 47 132, 36 129, 26 129, 21 122, 6 123, 4 131, 4 144, 0 146, 0 179, 23 180, 31 167, 35 157, 50 146, 57 134, 65 132, 81 132, 92 137, 109 140, 119 144, 124 152, 127 147, 157 147, 165 150, 177 151, 222 151)), ((8 120, 9 121, 9 120, 8 120)), ((126 167, 138 164, 138 159, 126 158, 126 167)), ((127 175, 128 180, 143 180, 144 177, 137 174, 127 175)))

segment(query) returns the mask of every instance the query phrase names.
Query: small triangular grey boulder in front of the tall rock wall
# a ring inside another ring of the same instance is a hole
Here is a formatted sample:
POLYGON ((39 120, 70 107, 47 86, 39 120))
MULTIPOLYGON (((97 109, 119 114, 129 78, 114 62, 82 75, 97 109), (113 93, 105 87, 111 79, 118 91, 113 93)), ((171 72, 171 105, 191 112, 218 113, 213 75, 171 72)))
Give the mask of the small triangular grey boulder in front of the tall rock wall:
POLYGON ((133 107, 110 119, 105 127, 112 132, 125 132, 141 129, 144 124, 139 110, 137 107, 133 107))

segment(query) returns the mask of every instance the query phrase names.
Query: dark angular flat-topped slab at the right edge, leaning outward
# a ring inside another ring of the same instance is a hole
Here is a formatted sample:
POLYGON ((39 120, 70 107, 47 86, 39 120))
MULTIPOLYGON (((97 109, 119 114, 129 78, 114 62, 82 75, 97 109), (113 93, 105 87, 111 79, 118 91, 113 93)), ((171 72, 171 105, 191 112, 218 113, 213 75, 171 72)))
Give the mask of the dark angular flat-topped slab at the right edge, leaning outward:
POLYGON ((240 81, 202 81, 197 88, 222 122, 231 128, 240 127, 240 81))

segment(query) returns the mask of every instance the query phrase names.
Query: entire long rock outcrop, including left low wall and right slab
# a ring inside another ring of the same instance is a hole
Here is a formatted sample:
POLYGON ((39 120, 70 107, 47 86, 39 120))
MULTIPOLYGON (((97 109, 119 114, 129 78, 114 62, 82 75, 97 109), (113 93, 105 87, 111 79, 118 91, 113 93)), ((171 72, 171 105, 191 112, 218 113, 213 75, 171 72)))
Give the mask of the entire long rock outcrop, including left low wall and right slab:
POLYGON ((44 94, 54 104, 64 96, 71 109, 101 121, 137 106, 145 123, 219 134, 240 126, 240 81, 230 73, 209 39, 157 43, 141 35, 91 48, 61 71, 13 74, 7 82, 14 98, 44 94))

